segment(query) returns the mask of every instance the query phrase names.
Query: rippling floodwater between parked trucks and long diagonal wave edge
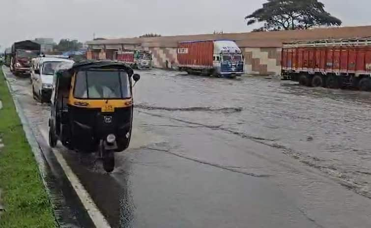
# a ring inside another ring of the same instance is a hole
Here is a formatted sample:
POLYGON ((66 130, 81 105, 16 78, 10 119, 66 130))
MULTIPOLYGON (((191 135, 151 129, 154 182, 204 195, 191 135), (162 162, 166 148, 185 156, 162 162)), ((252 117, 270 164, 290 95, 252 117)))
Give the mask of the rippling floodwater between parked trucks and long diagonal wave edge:
POLYGON ((136 108, 280 148, 371 197, 371 93, 143 71, 136 108))

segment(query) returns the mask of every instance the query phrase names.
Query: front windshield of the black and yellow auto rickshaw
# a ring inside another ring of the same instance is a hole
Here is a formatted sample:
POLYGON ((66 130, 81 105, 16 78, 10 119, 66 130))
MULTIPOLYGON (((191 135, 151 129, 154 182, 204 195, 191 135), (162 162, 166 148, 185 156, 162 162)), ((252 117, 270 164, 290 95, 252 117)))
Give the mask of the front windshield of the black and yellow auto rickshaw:
POLYGON ((130 82, 125 71, 89 70, 76 74, 74 97, 80 99, 130 98, 130 82))

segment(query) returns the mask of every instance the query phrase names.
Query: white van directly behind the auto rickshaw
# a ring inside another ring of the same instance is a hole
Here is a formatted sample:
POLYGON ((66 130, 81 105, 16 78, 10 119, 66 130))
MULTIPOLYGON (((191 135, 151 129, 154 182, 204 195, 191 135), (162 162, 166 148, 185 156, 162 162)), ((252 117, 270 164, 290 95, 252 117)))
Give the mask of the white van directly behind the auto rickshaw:
POLYGON ((43 102, 50 102, 53 89, 54 71, 60 63, 71 63, 70 59, 57 57, 39 57, 32 59, 31 82, 32 96, 34 99, 43 102))

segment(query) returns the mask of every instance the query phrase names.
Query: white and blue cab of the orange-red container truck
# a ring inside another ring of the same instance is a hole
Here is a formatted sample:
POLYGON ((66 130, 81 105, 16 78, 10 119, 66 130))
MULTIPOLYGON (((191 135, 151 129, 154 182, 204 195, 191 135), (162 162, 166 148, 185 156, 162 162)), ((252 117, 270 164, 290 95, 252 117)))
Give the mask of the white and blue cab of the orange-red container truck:
POLYGON ((241 76, 244 60, 242 52, 235 42, 230 40, 218 40, 214 43, 213 67, 214 74, 220 76, 241 76))

